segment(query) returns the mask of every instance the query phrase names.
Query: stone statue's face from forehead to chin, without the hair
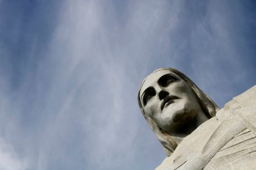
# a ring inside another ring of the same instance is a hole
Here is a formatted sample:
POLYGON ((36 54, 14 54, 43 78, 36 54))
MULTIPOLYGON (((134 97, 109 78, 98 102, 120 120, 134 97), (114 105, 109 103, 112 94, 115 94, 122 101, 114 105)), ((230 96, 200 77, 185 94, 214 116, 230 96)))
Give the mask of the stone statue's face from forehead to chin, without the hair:
POLYGON ((145 113, 169 134, 201 111, 189 84, 169 70, 154 72, 146 78, 140 100, 145 113))

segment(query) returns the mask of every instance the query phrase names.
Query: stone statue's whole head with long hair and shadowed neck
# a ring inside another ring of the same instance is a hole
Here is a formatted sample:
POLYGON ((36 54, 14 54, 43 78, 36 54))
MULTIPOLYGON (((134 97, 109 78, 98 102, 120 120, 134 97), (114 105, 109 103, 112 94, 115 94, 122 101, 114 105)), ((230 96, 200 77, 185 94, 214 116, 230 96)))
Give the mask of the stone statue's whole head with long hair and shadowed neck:
POLYGON ((191 124, 197 128, 219 110, 191 79, 174 68, 160 68, 147 76, 141 83, 138 102, 168 156, 178 146, 179 132, 191 124))

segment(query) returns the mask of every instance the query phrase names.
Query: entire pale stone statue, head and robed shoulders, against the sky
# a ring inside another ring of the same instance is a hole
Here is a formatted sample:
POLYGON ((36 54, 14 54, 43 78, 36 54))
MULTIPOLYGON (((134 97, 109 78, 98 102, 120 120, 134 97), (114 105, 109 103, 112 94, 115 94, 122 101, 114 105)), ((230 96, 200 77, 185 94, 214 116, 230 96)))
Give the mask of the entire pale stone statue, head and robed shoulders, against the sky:
POLYGON ((160 169, 256 169, 256 86, 218 106, 185 74, 160 68, 138 102, 167 158, 160 169))

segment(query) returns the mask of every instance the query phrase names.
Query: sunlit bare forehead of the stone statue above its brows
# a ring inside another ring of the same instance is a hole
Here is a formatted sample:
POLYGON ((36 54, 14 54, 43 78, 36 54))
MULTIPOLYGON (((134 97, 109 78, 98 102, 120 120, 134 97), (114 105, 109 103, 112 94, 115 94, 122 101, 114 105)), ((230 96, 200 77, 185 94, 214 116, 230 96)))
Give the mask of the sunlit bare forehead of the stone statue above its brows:
POLYGON ((163 70, 156 71, 154 73, 149 74, 149 76, 147 76, 146 80, 142 84, 142 87, 140 89, 140 96, 147 87, 152 86, 152 84, 156 83, 161 76, 164 76, 165 74, 168 74, 168 73, 172 73, 177 76, 177 74, 175 74, 174 72, 168 69, 163 69, 163 70))

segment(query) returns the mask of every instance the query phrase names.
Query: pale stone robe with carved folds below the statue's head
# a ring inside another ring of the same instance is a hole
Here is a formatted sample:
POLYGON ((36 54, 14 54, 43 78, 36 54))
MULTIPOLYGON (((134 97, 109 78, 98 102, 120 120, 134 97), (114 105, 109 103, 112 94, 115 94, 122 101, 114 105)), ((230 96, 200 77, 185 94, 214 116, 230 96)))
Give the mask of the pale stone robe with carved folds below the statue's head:
POLYGON ((156 169, 256 169, 256 86, 184 138, 156 169))

